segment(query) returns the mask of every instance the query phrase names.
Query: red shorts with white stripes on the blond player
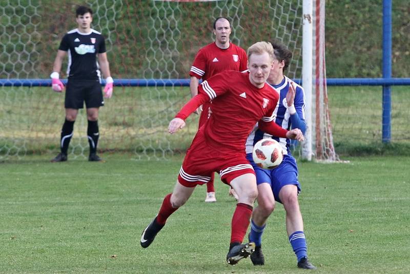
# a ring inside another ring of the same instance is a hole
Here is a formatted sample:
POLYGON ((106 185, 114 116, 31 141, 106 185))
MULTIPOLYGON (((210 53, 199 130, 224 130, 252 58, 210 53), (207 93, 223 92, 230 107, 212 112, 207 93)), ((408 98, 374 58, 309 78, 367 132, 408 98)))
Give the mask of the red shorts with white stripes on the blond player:
POLYGON ((246 159, 245 149, 241 152, 222 152, 207 145, 202 131, 199 130, 183 159, 178 182, 186 187, 203 185, 210 181, 213 172, 218 172, 222 182, 228 185, 240 175, 255 174, 246 159))

